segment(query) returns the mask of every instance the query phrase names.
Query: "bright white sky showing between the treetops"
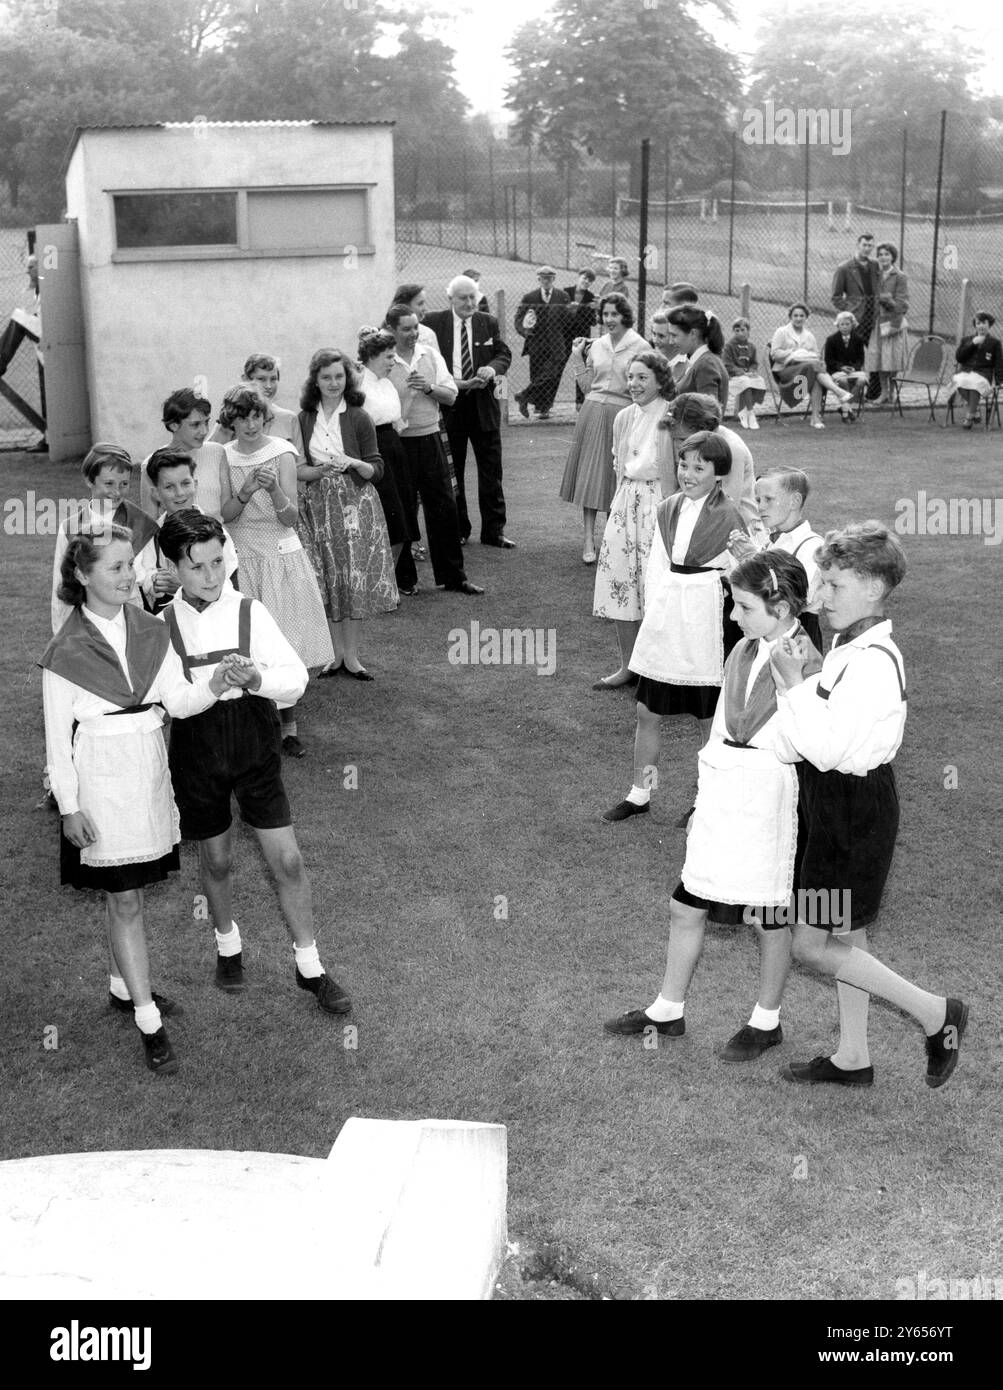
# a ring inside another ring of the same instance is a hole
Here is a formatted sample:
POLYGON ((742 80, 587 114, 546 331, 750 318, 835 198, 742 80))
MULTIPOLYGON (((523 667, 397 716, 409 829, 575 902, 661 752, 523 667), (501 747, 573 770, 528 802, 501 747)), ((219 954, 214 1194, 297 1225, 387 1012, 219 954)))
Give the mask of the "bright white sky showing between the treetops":
MULTIPOLYGON (((610 0, 610 15, 624 15, 629 4, 640 0, 610 0)), ((838 0, 834 0, 838 3, 838 0)), ((932 10, 943 15, 943 0, 874 0, 881 4, 889 24, 907 22, 917 10, 932 10)), ((456 18, 449 31, 439 36, 456 49, 454 71, 464 96, 474 111, 502 114, 504 111, 504 88, 511 79, 511 71, 503 51, 521 24, 535 19, 547 8, 547 0, 438 0, 438 8, 453 11, 456 18)), ((717 21, 714 32, 724 47, 739 56, 752 53, 756 42, 756 26, 763 13, 771 8, 770 0, 733 0, 735 25, 717 21)), ((977 11, 978 33, 967 36, 957 29, 947 42, 964 43, 972 54, 972 65, 978 70, 985 90, 1003 90, 1000 82, 999 54, 1003 53, 1003 8, 996 0, 982 0, 977 11), (993 56, 979 67, 979 54, 993 56)), ((949 31, 950 33, 950 31, 949 31)))

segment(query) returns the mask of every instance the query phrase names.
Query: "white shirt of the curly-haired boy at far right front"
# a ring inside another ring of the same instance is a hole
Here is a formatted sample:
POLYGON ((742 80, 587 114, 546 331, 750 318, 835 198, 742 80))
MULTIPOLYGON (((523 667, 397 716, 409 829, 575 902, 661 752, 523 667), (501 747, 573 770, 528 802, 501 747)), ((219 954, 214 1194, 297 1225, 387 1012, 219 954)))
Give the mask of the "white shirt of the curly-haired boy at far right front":
POLYGON ((818 676, 777 696, 777 712, 788 746, 788 760, 797 756, 820 771, 865 777, 890 763, 906 728, 906 702, 899 687, 902 653, 885 619, 842 646, 832 646, 818 676), (879 644, 886 652, 870 652, 879 644), (845 674, 840 677, 840 671, 845 674), (821 699, 818 687, 829 691, 821 699))

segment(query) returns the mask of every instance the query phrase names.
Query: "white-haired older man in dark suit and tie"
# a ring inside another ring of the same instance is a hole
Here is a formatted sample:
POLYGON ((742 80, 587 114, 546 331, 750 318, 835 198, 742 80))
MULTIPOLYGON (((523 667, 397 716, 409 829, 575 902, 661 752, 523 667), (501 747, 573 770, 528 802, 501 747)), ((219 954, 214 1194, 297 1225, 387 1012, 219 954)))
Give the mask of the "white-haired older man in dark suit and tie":
POLYGON ((470 513, 464 491, 467 443, 476 460, 476 495, 481 507, 481 545, 510 550, 515 545, 504 534, 506 502, 502 491, 502 409, 495 395, 495 381, 503 377, 513 354, 502 342, 497 318, 478 313, 478 288, 467 275, 457 275, 446 286, 449 309, 425 314, 439 343, 446 367, 453 373, 458 393, 443 406, 449 448, 456 473, 456 509, 460 535, 470 538, 470 513))

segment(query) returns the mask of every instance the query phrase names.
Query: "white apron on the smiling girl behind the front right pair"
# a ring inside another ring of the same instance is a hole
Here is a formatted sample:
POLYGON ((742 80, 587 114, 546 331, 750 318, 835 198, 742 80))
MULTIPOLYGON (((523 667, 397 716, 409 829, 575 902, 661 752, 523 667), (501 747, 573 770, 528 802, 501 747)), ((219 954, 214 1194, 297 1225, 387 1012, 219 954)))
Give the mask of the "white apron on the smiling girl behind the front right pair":
POLYGON ((674 573, 661 528, 656 525, 645 570, 645 619, 633 644, 631 670, 665 685, 720 685, 722 614, 720 570, 674 573))

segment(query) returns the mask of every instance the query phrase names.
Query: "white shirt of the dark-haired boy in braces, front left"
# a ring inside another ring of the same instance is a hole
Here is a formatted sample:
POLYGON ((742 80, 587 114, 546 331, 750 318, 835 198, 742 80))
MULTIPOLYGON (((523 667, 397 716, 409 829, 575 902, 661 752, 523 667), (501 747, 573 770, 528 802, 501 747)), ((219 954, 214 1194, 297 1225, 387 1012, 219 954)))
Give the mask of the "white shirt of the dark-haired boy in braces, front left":
MULTIPOLYGON (((181 589, 169 606, 176 616, 189 656, 200 652, 225 652, 236 646, 240 621, 240 595, 236 589, 224 585, 215 603, 210 603, 201 613, 188 602, 181 589)), ((253 695, 275 701, 279 709, 288 709, 301 698, 307 688, 307 669, 268 609, 257 599, 251 599, 250 657, 261 673, 261 685, 251 691, 253 695)), ((214 671, 215 666, 194 667, 192 671, 194 687, 200 689, 207 687, 214 671)), ((219 699, 240 698, 239 689, 224 691, 219 696, 219 699)))

